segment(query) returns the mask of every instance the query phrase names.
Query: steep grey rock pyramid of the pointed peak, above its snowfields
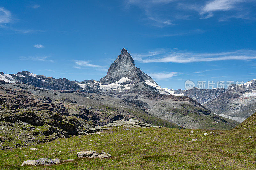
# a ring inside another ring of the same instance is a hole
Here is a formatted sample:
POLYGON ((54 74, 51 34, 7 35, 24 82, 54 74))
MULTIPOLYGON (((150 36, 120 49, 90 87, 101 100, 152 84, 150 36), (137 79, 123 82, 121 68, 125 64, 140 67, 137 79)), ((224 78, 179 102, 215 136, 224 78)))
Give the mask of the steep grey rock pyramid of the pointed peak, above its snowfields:
POLYGON ((135 67, 132 56, 125 48, 122 49, 121 54, 114 63, 111 64, 107 75, 101 78, 99 82, 102 84, 111 84, 122 78, 125 78, 127 82, 135 83, 149 80, 150 82, 157 84, 151 77, 143 73, 140 68, 135 67))

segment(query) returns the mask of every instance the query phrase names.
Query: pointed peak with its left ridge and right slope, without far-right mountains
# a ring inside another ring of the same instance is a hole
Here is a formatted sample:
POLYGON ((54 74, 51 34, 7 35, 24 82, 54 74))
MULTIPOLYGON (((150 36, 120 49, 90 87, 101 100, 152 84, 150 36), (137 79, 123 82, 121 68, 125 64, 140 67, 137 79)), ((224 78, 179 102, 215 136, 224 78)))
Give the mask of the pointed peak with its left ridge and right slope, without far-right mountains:
MULTIPOLYGON (((124 99, 155 117, 191 129, 231 129, 237 122, 220 117, 193 100, 182 90, 162 88, 150 76, 135 66, 130 53, 123 48, 100 81, 69 81, 36 75, 28 71, 1 74, 6 81, 18 81, 48 90, 98 93, 124 99), (180 92, 180 94, 177 94, 180 92), (205 124, 205 122, 207 122, 205 124)), ((1 79, 1 77, 0 77, 1 79)), ((7 82, 8 83, 8 82, 7 82)))

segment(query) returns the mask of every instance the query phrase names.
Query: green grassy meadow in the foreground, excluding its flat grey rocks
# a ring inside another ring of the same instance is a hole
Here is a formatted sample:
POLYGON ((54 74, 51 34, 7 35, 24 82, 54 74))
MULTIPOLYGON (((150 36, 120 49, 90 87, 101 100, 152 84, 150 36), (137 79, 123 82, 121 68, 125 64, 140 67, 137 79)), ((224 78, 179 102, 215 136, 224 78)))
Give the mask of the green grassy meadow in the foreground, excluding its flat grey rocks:
POLYGON ((59 138, 0 151, 0 169, 256 169, 250 163, 256 162, 255 130, 214 130, 218 135, 208 131, 209 136, 203 135, 205 130, 193 130, 193 135, 190 131, 115 127, 97 135, 59 138), (88 150, 107 152, 112 158, 77 159, 76 152, 88 150), (20 166, 25 160, 41 157, 75 161, 52 166, 20 166))

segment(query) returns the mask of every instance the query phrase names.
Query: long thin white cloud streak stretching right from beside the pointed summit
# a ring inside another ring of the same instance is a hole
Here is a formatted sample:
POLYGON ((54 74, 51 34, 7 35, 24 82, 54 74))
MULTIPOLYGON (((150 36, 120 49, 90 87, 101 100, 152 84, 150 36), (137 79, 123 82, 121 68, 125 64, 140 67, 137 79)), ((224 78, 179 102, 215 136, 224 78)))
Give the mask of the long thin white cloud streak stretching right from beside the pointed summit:
MULTIPOLYGON (((151 52, 152 53, 152 52, 151 52)), ((134 59, 142 63, 192 63, 223 60, 255 60, 256 50, 237 50, 222 53, 193 53, 170 51, 158 55, 135 54, 134 59)))

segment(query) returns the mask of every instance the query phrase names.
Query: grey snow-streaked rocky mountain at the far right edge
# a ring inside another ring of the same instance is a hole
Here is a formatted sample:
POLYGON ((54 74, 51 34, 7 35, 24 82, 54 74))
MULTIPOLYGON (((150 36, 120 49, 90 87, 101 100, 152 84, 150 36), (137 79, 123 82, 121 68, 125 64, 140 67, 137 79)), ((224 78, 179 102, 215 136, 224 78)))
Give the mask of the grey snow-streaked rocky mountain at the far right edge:
POLYGON ((232 84, 204 106, 220 116, 243 122, 256 111, 255 83, 256 80, 251 80, 238 87, 232 84))

